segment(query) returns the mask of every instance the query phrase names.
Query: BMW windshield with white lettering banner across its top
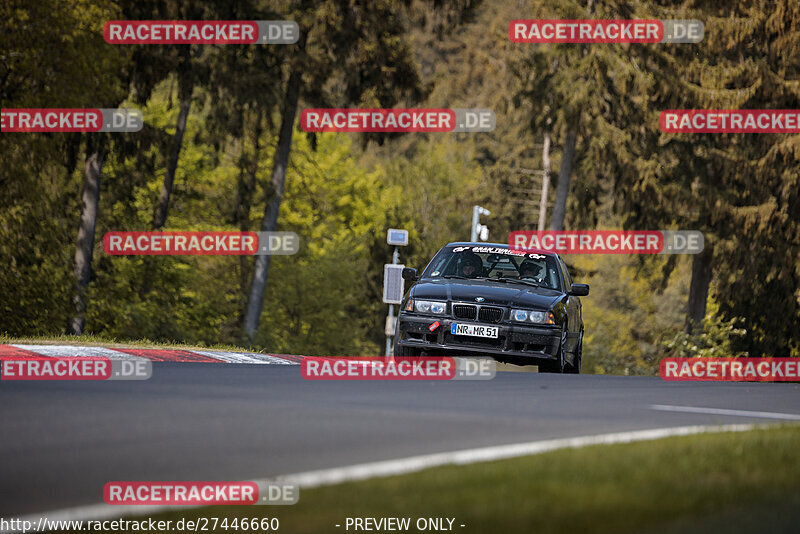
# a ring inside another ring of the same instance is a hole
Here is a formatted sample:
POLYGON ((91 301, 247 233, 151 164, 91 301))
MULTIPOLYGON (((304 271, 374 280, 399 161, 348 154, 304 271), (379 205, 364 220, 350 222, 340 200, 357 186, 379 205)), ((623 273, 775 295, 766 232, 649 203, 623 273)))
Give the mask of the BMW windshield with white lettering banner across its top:
POLYGON ((446 248, 436 255, 422 277, 515 281, 561 290, 555 257, 501 247, 446 248))

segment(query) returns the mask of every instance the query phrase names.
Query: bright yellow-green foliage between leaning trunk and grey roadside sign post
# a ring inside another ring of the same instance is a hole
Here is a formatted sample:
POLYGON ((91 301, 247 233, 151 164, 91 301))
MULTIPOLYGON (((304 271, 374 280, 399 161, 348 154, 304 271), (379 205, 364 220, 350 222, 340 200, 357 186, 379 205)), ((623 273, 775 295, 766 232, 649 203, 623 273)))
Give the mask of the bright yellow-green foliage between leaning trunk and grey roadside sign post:
POLYGON ((293 147, 279 230, 300 236, 294 256, 276 256, 259 328, 277 352, 321 355, 377 354, 368 342, 374 303, 365 282, 373 240, 385 233, 394 198, 381 169, 366 171, 341 134, 306 137, 293 147))

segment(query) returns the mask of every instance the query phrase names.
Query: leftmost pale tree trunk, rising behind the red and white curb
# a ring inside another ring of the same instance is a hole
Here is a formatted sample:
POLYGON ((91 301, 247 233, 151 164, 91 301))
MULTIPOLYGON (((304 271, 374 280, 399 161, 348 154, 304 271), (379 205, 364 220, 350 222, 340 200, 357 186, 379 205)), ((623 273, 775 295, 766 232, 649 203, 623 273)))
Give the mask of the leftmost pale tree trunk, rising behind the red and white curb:
POLYGON ((67 334, 80 335, 86 326, 86 288, 92 278, 92 256, 94 253, 94 232, 97 227, 97 205, 100 202, 100 178, 103 172, 103 138, 94 140, 92 148, 90 137, 87 158, 83 173, 83 192, 81 197, 81 222, 75 247, 75 295, 72 298, 75 315, 67 323, 67 334))

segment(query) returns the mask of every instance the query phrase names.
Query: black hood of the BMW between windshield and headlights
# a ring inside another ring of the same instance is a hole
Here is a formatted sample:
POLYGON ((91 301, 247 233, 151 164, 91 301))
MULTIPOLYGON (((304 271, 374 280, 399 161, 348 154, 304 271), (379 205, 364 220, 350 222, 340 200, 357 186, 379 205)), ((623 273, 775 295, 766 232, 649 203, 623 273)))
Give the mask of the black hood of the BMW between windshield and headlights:
POLYGON ((417 299, 455 300, 498 306, 549 309, 564 297, 564 293, 543 287, 492 282, 490 280, 425 280, 411 288, 410 296, 417 299))

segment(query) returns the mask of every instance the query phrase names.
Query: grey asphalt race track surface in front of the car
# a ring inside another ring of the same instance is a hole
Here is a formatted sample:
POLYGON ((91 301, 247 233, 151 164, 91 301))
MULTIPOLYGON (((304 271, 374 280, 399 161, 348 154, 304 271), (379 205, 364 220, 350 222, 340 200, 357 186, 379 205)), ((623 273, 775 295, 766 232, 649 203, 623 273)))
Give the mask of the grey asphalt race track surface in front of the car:
POLYGON ((800 384, 498 372, 307 381, 299 366, 161 363, 147 381, 0 383, 0 516, 103 501, 114 480, 250 480, 418 454, 800 416, 800 384))

